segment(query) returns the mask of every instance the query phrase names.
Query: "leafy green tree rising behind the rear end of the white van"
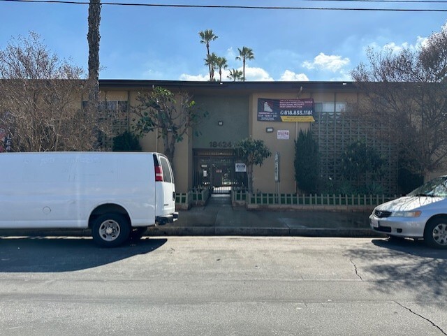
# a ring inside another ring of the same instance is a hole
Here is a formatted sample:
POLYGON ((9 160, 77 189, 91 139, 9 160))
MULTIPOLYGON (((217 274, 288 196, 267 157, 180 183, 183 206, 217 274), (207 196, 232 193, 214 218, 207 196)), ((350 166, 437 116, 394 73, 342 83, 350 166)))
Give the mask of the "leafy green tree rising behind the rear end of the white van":
POLYGON ((135 116, 133 131, 139 137, 158 129, 163 139, 164 154, 173 163, 175 144, 207 116, 200 111, 191 94, 174 94, 163 87, 154 87, 151 92, 140 92, 138 103, 131 106, 135 116))

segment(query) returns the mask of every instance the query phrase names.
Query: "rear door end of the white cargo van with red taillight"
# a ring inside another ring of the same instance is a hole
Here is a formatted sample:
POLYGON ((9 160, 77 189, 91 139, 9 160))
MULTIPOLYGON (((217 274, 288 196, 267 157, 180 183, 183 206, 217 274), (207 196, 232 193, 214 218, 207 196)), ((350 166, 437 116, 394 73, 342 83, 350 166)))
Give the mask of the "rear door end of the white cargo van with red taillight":
MULTIPOLYGON (((155 166, 155 189, 156 189, 156 217, 159 221, 170 219, 171 216, 177 219, 175 212, 175 181, 173 169, 169 160, 162 154, 154 154, 155 166), (161 220, 160 220, 161 219, 161 220)), ((168 220, 169 221, 169 220, 168 220)))

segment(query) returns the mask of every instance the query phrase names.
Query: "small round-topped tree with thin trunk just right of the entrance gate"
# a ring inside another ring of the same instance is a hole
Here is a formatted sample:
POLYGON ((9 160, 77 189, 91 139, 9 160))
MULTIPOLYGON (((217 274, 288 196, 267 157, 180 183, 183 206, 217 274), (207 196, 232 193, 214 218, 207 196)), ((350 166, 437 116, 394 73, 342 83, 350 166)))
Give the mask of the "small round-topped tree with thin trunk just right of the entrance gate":
POLYGON ((263 140, 246 138, 235 145, 235 156, 247 166, 249 192, 253 191, 253 166, 262 166, 265 159, 272 155, 263 140))

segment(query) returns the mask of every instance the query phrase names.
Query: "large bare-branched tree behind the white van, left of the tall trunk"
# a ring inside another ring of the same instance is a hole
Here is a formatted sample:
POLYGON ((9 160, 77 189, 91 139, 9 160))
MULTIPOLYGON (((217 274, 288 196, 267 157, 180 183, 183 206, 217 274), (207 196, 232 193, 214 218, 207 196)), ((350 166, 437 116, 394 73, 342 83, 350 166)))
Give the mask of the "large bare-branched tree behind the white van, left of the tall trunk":
POLYGON ((0 125, 13 151, 90 150, 96 119, 80 106, 84 72, 59 59, 33 32, 0 50, 0 125))

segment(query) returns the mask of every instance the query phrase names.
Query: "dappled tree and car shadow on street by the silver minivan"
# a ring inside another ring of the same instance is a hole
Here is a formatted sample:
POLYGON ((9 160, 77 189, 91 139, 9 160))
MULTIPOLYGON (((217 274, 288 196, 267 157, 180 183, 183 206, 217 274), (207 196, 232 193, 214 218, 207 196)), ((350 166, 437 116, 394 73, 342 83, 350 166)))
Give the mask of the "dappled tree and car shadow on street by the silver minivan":
POLYGON ((427 247, 423 240, 373 239, 379 249, 367 247, 346 250, 363 280, 372 290, 393 295, 411 289, 414 300, 444 305, 447 278, 447 250, 427 247))

